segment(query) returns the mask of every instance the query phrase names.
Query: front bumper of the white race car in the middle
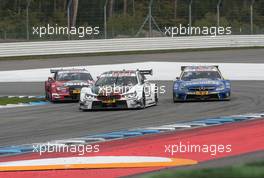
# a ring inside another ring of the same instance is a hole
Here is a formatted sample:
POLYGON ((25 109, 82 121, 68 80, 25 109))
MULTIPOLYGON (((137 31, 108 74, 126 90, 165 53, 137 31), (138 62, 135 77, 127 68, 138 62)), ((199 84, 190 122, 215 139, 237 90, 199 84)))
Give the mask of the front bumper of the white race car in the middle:
POLYGON ((137 99, 120 99, 114 103, 105 103, 100 100, 80 101, 81 110, 100 110, 100 109, 136 109, 141 107, 141 101, 137 99))

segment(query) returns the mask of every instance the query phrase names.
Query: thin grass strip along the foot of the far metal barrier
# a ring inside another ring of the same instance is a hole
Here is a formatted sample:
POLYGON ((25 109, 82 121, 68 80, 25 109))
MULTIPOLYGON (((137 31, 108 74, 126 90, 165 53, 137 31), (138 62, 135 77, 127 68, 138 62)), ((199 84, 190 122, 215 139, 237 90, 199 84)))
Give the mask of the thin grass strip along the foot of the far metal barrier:
POLYGON ((89 56, 134 55, 134 54, 157 54, 157 53, 195 52, 195 51, 223 51, 223 50, 262 49, 262 48, 264 48, 264 47, 209 48, 209 49, 171 49, 171 50, 84 53, 84 54, 58 54, 58 55, 39 55, 39 56, 0 57, 0 60, 33 60, 33 59, 50 59, 50 58, 65 58, 65 57, 89 57, 89 56))

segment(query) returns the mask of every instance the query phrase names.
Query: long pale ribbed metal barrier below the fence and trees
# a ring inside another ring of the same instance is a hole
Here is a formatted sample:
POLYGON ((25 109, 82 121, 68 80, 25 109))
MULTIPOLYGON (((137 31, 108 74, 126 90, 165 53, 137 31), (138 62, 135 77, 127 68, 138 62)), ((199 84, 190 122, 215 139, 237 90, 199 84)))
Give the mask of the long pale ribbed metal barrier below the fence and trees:
POLYGON ((107 40, 69 40, 0 43, 0 57, 81 54, 99 52, 263 47, 264 35, 226 35, 107 40))

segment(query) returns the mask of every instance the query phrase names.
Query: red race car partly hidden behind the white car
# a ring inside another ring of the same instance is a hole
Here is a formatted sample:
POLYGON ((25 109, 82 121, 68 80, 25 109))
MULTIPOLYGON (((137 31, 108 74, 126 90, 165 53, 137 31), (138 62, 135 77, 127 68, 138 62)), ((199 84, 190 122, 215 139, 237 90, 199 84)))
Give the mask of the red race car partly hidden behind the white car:
POLYGON ((46 99, 55 101, 79 101, 82 87, 94 83, 86 69, 51 69, 53 77, 45 81, 46 99))

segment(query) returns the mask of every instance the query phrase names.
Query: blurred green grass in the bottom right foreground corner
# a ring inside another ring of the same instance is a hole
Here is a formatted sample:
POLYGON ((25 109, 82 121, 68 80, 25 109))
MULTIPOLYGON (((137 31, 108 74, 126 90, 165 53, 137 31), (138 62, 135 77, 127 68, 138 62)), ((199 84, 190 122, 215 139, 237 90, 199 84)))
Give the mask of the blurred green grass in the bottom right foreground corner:
POLYGON ((224 168, 163 170, 142 178, 264 178, 264 161, 224 168))

